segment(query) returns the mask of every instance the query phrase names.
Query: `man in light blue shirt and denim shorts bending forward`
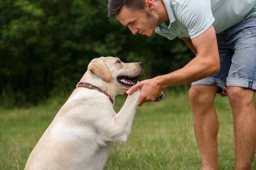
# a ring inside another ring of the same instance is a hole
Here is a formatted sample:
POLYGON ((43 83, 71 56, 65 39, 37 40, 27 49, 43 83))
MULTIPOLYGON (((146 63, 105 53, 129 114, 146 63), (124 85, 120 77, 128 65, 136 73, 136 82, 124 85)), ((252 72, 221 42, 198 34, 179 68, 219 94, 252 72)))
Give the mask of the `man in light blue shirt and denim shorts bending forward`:
POLYGON ((157 32, 169 40, 178 37, 196 54, 183 68, 141 81, 127 93, 141 89, 141 105, 155 101, 163 88, 193 82, 189 97, 202 170, 218 170, 218 119, 213 100, 216 93, 227 95, 227 89, 234 116, 235 170, 249 170, 254 159, 255 5, 256 0, 108 2, 108 15, 128 26, 133 34, 151 36, 157 32))

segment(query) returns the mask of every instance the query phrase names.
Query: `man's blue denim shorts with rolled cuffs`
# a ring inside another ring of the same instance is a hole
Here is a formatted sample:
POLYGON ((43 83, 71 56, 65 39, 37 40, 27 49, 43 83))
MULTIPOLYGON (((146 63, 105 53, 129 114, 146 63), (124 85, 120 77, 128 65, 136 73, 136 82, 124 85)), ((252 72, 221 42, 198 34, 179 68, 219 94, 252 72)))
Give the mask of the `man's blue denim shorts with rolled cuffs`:
POLYGON ((256 90, 256 15, 216 35, 220 71, 191 85, 224 85, 256 90))

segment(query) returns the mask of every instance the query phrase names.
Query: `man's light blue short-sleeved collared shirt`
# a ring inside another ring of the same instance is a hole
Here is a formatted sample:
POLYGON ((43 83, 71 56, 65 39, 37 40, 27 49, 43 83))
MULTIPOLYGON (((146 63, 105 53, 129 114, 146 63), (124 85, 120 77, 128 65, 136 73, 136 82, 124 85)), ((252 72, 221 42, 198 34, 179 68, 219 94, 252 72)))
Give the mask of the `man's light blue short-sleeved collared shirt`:
POLYGON ((170 24, 157 25, 155 32, 173 40, 197 37, 211 24, 217 33, 256 15, 256 0, 163 0, 170 24))

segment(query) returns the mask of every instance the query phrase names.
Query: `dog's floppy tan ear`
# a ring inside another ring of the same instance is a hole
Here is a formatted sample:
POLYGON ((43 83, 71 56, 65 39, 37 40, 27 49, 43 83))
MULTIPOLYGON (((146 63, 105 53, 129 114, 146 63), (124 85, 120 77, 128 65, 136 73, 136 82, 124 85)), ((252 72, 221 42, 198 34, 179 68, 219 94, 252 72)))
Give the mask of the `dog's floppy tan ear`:
POLYGON ((107 64, 101 58, 97 58, 92 60, 88 65, 88 70, 91 73, 95 73, 97 76, 101 77, 106 82, 110 82, 112 79, 112 75, 110 73, 110 69, 107 64))

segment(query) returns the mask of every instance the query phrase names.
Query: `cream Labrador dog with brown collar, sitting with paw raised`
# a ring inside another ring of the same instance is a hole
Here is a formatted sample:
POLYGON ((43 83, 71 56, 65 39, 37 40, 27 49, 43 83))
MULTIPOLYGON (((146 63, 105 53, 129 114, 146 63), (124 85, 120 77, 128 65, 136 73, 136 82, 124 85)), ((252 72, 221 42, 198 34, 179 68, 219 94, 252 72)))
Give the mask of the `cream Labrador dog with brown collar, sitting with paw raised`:
POLYGON ((32 150, 25 170, 103 170, 114 142, 128 138, 140 91, 128 95, 118 113, 115 96, 135 85, 142 71, 141 62, 93 59, 32 150))

